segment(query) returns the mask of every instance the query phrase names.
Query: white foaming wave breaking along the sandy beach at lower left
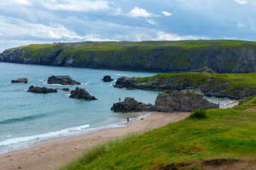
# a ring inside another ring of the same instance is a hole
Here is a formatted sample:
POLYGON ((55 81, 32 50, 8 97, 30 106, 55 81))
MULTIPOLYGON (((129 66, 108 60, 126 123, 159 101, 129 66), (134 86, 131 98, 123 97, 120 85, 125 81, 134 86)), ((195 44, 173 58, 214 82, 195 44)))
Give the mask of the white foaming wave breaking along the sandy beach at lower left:
POLYGON ((4 140, 0 142, 0 154, 16 150, 27 148, 33 144, 38 142, 42 142, 44 140, 50 140, 57 137, 65 137, 69 135, 75 135, 75 132, 80 132, 81 130, 85 130, 89 128, 90 125, 81 125, 72 128, 66 128, 63 130, 58 130, 55 132, 48 132, 40 135, 32 135, 27 137, 15 137, 8 140, 4 140))

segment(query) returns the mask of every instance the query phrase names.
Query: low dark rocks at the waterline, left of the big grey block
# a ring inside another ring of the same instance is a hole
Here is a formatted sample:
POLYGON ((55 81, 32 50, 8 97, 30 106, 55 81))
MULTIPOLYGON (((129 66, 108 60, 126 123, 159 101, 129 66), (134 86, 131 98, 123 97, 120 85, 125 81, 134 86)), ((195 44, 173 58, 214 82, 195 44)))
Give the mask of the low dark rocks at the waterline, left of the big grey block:
POLYGON ((114 103, 111 111, 114 112, 139 112, 139 111, 154 111, 154 106, 136 101, 134 98, 125 98, 124 101, 114 103))

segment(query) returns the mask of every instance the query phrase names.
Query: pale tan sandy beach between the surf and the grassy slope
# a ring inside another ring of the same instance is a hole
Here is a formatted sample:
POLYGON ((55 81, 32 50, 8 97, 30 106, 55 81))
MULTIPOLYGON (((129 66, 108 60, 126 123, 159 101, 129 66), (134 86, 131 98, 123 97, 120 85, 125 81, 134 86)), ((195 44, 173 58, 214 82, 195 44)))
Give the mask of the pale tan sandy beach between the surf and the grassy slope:
MULTIPOLYGON (((231 103, 225 108, 237 105, 238 102, 231 103)), ((150 116, 127 123, 124 128, 111 128, 95 132, 90 135, 74 137, 69 140, 50 142, 30 149, 22 149, 6 154, 0 154, 0 169, 57 169, 66 162, 80 156, 88 148, 100 142, 122 137, 132 132, 146 132, 155 128, 160 128, 169 123, 177 122, 188 117, 190 113, 158 113, 152 112, 150 116)))

